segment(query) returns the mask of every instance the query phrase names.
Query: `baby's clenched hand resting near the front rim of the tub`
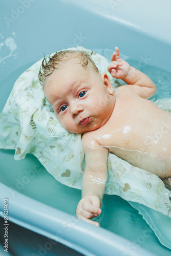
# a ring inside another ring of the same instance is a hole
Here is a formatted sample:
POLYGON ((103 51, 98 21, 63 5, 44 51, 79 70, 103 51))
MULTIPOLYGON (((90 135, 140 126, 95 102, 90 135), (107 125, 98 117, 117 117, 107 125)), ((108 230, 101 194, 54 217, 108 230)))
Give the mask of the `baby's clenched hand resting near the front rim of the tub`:
POLYGON ((77 205, 77 217, 80 220, 86 221, 95 226, 99 226, 98 222, 90 219, 93 219, 101 214, 100 204, 100 199, 96 196, 83 197, 77 205))

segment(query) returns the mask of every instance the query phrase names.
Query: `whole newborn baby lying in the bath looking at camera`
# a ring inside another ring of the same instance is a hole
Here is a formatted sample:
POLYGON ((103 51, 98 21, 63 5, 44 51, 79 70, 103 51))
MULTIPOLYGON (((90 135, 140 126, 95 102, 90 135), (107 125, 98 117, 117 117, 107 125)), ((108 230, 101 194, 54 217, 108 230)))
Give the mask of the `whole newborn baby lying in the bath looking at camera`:
POLYGON ((109 76, 99 74, 83 51, 44 58, 39 72, 62 126, 82 134, 86 168, 76 214, 94 225, 99 225, 91 219, 101 213, 109 152, 161 178, 171 176, 171 115, 147 100, 156 92, 154 82, 122 60, 118 47, 108 70, 127 84, 114 92, 109 76))

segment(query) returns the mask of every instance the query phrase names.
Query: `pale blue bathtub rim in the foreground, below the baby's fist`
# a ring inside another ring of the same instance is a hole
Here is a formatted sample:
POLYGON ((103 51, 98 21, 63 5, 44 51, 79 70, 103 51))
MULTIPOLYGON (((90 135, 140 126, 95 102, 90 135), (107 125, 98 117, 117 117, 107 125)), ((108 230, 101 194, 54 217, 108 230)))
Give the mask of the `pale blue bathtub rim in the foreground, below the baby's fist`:
POLYGON ((76 217, 73 217, 66 212, 29 198, 28 196, 9 188, 2 182, 0 182, 0 185, 1 191, 3 192, 0 196, 0 216, 2 218, 4 217, 4 198, 8 198, 8 219, 17 225, 30 229, 42 236, 55 240, 88 256, 95 256, 97 253, 99 256, 105 255, 106 246, 108 248, 108 255, 113 255, 114 252, 115 255, 121 255, 121 253, 126 253, 126 255, 130 256, 155 255, 137 246, 131 241, 120 237, 118 234, 114 234, 104 228, 95 227, 91 224, 78 220, 76 217), (13 200, 14 195, 12 192, 15 193, 15 200, 13 200), (4 197, 4 195, 6 196, 4 197), (41 209, 43 210, 43 214, 41 209), (51 214, 49 214, 49 212, 51 212, 51 214), (58 218, 56 218, 56 216, 58 216, 58 218), (75 219, 74 224, 72 222, 66 222, 67 219, 71 218, 75 219), (63 225, 66 225, 67 228, 63 225), (57 229, 59 229, 58 235, 55 231, 57 229), (89 244, 89 247, 87 244, 89 244), (96 246, 92 247, 90 244, 96 244, 96 246), (130 244, 136 248, 135 251, 131 250, 132 247, 130 244))

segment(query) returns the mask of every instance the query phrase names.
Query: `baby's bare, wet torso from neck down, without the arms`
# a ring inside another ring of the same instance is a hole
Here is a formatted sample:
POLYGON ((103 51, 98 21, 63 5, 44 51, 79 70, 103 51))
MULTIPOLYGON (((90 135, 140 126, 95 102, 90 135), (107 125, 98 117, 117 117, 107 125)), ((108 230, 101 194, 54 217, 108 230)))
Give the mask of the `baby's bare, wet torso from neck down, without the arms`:
POLYGON ((101 146, 132 165, 159 177, 171 175, 171 115, 132 90, 116 91, 110 119, 92 133, 101 146))

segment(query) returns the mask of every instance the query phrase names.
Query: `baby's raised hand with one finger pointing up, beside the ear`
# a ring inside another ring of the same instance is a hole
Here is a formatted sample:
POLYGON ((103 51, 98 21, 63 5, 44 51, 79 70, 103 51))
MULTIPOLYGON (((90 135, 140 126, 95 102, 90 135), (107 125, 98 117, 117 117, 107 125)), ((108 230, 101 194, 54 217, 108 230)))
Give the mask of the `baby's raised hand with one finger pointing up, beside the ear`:
POLYGON ((115 47, 115 52, 113 53, 111 60, 112 62, 108 66, 109 72, 113 77, 124 80, 130 73, 131 66, 125 60, 121 59, 118 47, 115 47))

